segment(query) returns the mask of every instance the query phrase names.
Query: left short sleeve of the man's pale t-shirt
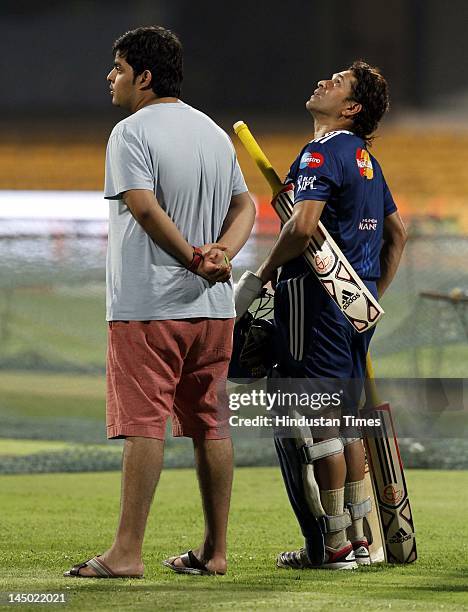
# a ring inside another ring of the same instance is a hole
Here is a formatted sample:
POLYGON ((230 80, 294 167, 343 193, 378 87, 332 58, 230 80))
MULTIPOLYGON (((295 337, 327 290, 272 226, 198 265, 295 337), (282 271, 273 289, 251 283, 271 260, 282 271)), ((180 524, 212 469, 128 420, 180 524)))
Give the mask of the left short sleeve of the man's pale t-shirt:
POLYGON ((153 165, 141 139, 129 129, 112 132, 106 151, 104 197, 117 200, 129 189, 154 191, 153 165))

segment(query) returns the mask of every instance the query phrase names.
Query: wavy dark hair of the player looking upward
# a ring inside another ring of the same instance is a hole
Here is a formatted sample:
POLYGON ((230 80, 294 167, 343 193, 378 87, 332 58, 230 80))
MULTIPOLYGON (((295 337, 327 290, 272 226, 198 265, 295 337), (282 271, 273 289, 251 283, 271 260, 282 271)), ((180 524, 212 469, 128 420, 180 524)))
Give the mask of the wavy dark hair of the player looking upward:
POLYGON ((353 117, 353 131, 370 145, 372 134, 389 108, 388 83, 378 68, 362 60, 353 62, 348 70, 355 78, 351 99, 362 105, 362 109, 353 117))

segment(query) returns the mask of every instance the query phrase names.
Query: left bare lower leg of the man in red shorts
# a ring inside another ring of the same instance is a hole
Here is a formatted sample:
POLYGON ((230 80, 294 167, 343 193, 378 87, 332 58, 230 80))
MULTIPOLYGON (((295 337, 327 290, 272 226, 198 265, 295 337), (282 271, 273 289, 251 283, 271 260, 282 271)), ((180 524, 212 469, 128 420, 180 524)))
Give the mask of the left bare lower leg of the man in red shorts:
MULTIPOLYGON (((164 441, 130 437, 125 440, 120 520, 112 546, 100 559, 116 574, 142 574, 141 556, 146 521, 163 462, 164 441)), ((92 576, 92 568, 80 574, 92 576)))

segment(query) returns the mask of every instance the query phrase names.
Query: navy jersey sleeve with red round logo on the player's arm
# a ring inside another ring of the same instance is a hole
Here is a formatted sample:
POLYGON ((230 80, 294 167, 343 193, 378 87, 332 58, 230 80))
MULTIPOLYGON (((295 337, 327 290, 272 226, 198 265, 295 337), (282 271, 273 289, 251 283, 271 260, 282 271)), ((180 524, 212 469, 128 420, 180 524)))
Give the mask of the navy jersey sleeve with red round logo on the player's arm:
POLYGON ((293 169, 296 174, 295 203, 303 200, 326 202, 343 183, 340 160, 327 144, 309 143, 291 167, 293 169))

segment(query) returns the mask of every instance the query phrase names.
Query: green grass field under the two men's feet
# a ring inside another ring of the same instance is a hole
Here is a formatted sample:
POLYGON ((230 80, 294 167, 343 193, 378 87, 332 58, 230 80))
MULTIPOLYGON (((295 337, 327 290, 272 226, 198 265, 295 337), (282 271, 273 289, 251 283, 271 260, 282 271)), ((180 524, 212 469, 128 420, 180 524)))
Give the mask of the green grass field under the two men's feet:
POLYGON ((0 591, 65 592, 67 608, 76 610, 468 610, 468 472, 408 472, 417 563, 327 572, 275 569, 276 554, 301 543, 279 471, 238 469, 228 574, 200 578, 161 566, 166 556, 196 546, 202 532, 194 473, 167 470, 148 526, 146 578, 62 578, 63 570, 110 542, 119 478, 1 476, 0 591))

